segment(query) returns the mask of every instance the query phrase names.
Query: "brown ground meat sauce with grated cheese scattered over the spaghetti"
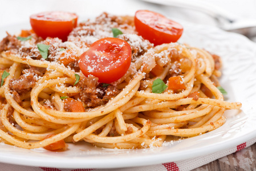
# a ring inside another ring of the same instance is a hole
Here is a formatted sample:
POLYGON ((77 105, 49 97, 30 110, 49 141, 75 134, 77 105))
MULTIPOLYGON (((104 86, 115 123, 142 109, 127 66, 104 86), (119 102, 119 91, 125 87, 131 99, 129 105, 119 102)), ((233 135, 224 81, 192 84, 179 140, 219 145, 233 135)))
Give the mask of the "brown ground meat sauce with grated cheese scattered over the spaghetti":
MULTIPOLYGON (((78 65, 79 56, 84 51, 87 51, 90 45, 96 40, 112 37, 111 28, 114 27, 125 30, 125 33, 119 35, 118 38, 127 41, 131 46, 132 62, 136 62, 139 56, 145 54, 153 47, 152 43, 137 35, 132 17, 117 17, 115 15, 103 13, 97 17, 95 21, 88 20, 80 23, 70 33, 67 42, 62 42, 59 38, 46 38, 43 40, 36 36, 32 31, 22 31, 23 34, 21 34, 21 36, 32 36, 30 44, 28 44, 26 41, 23 42, 17 39, 17 36, 7 33, 7 36, 0 42, 0 52, 10 51, 21 56, 21 58, 48 60, 52 63, 63 64, 75 72, 80 72, 78 65), (36 44, 38 43, 47 44, 49 46, 47 59, 43 59, 42 55, 40 55, 38 47, 36 47, 36 44), (72 47, 78 47, 78 49, 72 47), (70 48, 74 50, 72 53, 71 51, 68 51, 70 48), (70 58, 71 60, 63 60, 63 56, 68 57, 70 55, 72 56, 72 58, 70 58)), ((213 57, 214 62, 216 63, 216 69, 219 69, 221 64, 220 58, 216 55, 213 55, 213 57)), ((189 61, 183 63, 178 61, 180 61, 178 56, 177 59, 173 58, 173 66, 168 72, 168 77, 180 75, 180 72, 186 72, 186 68, 190 68, 191 64, 189 61), (186 68, 184 68, 184 66, 186 66, 186 68)), ((45 72, 46 70, 43 68, 23 66, 21 76, 10 80, 9 88, 13 93, 13 96, 15 96, 17 103, 22 103, 20 96, 31 91, 32 87, 35 86, 38 79, 41 78, 45 72)), ((147 74, 146 79, 149 76, 150 75, 147 74)), ((86 108, 95 108, 99 105, 104 105, 121 91, 117 88, 116 84, 103 86, 103 84, 98 82, 98 79, 95 76, 82 78, 75 86, 80 89, 80 92, 79 94, 71 96, 71 98, 82 101, 82 103, 86 105, 86 108)), ((65 105, 65 110, 71 111, 69 104, 65 105)))

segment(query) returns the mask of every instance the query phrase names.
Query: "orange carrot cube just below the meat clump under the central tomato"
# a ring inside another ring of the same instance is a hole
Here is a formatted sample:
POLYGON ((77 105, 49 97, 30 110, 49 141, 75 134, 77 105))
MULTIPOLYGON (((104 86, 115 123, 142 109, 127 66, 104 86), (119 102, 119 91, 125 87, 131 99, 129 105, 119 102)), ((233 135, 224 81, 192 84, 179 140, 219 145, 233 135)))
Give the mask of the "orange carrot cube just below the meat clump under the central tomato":
POLYGON ((70 112, 84 112, 83 103, 81 101, 68 97, 64 100, 64 107, 70 112))

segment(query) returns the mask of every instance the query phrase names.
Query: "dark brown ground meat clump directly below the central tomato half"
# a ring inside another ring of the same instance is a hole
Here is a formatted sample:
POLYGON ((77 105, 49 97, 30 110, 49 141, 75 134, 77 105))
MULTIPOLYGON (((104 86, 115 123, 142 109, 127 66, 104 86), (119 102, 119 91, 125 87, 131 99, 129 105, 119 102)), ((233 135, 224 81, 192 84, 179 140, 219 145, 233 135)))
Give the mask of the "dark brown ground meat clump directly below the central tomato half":
POLYGON ((88 107, 104 105, 119 92, 116 86, 109 84, 103 87, 103 84, 99 84, 97 80, 98 78, 90 75, 78 83, 81 89, 80 98, 88 107))

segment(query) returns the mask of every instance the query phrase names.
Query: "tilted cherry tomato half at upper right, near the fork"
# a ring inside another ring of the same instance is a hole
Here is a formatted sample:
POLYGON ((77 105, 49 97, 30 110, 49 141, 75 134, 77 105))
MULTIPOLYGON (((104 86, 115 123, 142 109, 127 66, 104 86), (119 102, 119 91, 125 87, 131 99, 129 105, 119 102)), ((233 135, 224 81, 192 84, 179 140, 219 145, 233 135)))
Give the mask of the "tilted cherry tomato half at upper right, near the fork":
POLYGON ((134 22, 139 35, 154 43, 155 46, 177 42, 183 32, 183 27, 179 23, 152 11, 137 11, 134 22))

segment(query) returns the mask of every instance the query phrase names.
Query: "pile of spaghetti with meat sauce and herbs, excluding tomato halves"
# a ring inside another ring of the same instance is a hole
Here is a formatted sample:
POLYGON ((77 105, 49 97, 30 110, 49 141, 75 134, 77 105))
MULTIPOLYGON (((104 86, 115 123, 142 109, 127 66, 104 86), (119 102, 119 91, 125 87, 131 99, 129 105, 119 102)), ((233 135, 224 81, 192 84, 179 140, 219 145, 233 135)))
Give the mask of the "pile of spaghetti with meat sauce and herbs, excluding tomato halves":
POLYGON ((219 56, 179 43, 153 44, 138 34, 133 17, 103 13, 79 23, 67 40, 33 30, 7 33, 0 43, 4 143, 50 150, 77 141, 105 148, 161 146, 166 136, 193 137, 221 127, 226 109, 241 108, 224 101, 219 56), (127 71, 111 82, 84 74, 82 54, 113 36, 131 46, 127 71))

